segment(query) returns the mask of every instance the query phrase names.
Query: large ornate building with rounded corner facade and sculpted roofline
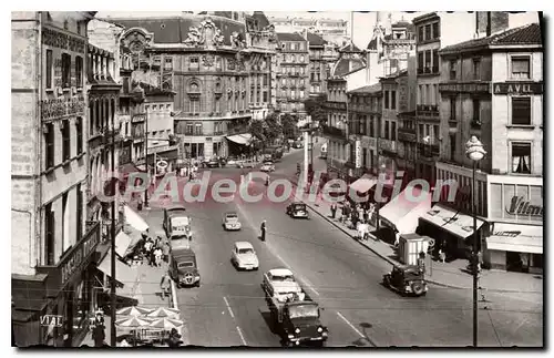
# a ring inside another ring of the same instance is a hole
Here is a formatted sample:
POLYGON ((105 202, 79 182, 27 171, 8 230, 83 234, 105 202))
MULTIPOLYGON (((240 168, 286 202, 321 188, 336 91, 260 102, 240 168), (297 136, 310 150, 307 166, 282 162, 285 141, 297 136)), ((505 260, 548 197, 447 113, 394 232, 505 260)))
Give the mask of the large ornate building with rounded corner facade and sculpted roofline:
POLYGON ((187 156, 228 155, 247 147, 252 84, 261 102, 263 76, 269 75, 270 61, 261 51, 247 51, 244 21, 189 13, 111 21, 127 29, 123 41, 135 63, 162 58, 161 76, 148 69, 134 71, 133 80, 154 88, 162 83, 166 85, 162 90, 176 93, 174 133, 187 156), (256 69, 265 71, 260 75, 256 70, 256 79, 250 76, 253 58, 257 59, 256 69))

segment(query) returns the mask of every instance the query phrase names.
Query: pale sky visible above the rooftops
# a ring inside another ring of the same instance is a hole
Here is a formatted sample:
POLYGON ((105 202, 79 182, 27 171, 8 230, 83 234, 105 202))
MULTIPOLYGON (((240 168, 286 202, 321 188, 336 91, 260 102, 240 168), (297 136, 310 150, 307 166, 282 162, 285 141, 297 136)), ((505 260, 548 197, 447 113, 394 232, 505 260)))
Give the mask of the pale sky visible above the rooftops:
MULTIPOLYGON (((198 11, 194 11, 197 13, 198 11)), ((425 12, 402 12, 402 11, 392 11, 391 12, 391 21, 396 22, 399 20, 411 21, 413 18, 417 18, 425 12)), ((268 18, 277 17, 277 18, 304 18, 304 19, 340 19, 351 21, 352 12, 351 11, 265 11, 268 18)), ((112 17, 112 18, 140 18, 140 17, 168 17, 168 16, 179 16, 181 11, 99 11, 96 14, 98 18, 112 17)), ((365 49, 369 41, 371 40, 373 33, 373 25, 376 24, 377 12, 355 12, 353 13, 353 43, 360 49, 365 49)), ((386 18, 386 16, 383 16, 386 18)), ((382 19, 386 21, 386 19, 382 19)), ((531 22, 537 22, 538 17, 536 12, 527 12, 521 14, 510 14, 510 27, 519 27, 531 22)), ((350 32, 350 28, 348 29, 350 32)))

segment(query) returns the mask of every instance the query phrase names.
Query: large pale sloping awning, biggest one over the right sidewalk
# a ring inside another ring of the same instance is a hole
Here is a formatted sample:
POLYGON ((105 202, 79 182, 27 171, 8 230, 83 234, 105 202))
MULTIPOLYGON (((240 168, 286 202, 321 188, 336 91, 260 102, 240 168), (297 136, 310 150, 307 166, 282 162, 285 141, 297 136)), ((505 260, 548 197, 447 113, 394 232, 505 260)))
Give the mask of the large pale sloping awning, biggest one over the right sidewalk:
POLYGON ((379 216, 400 234, 414 233, 419 217, 431 208, 431 193, 408 186, 379 211, 379 216))

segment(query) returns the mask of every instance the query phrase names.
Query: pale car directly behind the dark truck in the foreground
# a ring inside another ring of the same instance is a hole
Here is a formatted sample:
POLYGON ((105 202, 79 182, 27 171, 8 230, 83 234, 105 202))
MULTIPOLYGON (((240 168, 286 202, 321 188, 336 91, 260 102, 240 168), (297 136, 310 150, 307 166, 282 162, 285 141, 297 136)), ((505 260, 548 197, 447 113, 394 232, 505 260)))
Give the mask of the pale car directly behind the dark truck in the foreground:
POLYGON ((271 297, 278 303, 286 303, 294 297, 304 300, 306 297, 306 293, 288 268, 274 268, 265 273, 261 288, 267 297, 271 297))

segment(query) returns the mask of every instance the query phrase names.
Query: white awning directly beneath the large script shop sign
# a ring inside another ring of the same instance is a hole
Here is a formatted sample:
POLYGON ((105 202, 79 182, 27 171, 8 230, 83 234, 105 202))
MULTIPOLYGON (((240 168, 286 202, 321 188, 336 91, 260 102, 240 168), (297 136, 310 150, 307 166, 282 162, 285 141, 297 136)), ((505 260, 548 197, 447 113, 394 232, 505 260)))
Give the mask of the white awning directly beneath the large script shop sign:
POLYGON ((543 226, 494 223, 486 248, 513 253, 543 253, 543 226))

